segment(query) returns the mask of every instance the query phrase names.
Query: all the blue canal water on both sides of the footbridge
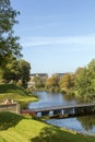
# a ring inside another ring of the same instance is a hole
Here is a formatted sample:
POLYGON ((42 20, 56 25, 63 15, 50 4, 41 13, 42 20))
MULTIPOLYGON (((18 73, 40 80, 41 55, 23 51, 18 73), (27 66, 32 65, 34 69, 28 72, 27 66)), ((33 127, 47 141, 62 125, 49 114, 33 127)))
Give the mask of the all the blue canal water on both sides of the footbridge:
MULTIPOLYGON (((36 95, 39 97, 39 102, 29 103, 28 108, 43 108, 50 106, 61 106, 61 105, 75 105, 84 103, 83 99, 80 100, 73 96, 60 94, 60 93, 47 93, 37 92, 36 95)), ((51 123, 57 127, 63 127, 72 129, 79 132, 84 132, 87 134, 95 134, 95 116, 85 117, 74 117, 74 118, 63 118, 63 119, 48 119, 46 122, 51 123)))

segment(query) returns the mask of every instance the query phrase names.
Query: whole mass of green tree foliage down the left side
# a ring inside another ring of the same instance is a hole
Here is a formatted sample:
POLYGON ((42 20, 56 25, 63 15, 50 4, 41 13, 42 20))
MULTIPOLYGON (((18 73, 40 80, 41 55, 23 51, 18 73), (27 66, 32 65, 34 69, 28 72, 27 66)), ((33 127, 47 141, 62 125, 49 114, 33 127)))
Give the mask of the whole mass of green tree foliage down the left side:
POLYGON ((13 31, 19 14, 10 0, 0 0, 0 78, 8 83, 19 82, 19 85, 27 87, 31 66, 25 60, 19 60, 22 47, 13 31))

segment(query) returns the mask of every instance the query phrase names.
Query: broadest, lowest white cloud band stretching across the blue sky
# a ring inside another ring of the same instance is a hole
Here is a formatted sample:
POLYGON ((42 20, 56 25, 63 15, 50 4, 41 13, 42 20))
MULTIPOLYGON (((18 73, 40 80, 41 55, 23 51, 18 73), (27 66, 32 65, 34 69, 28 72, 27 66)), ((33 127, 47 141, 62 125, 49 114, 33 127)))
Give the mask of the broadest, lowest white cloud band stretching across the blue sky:
POLYGON ((95 45, 95 35, 67 37, 24 37, 21 42, 23 47, 67 44, 95 45))

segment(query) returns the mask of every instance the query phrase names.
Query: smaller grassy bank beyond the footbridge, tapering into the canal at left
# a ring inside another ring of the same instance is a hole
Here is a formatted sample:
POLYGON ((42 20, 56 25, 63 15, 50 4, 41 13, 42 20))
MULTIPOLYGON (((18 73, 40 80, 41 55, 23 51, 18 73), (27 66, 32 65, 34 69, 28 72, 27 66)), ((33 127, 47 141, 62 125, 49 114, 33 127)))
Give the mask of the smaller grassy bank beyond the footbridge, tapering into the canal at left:
POLYGON ((15 86, 13 84, 0 85, 0 102, 3 102, 5 98, 11 98, 21 103, 21 106, 24 107, 28 102, 38 100, 32 94, 28 94, 22 87, 15 86))

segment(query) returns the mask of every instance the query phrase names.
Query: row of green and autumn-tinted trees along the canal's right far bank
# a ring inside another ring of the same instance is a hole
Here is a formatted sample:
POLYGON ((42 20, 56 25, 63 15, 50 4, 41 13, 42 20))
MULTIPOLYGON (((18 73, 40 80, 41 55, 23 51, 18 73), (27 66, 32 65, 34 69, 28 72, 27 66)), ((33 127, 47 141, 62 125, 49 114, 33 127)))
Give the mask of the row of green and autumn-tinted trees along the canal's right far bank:
POLYGON ((41 78, 34 76, 34 84, 36 90, 47 92, 61 92, 68 95, 74 95, 82 98, 95 99, 95 59, 93 59, 86 67, 79 68, 74 73, 63 73, 60 75, 52 74, 43 82, 41 78))

